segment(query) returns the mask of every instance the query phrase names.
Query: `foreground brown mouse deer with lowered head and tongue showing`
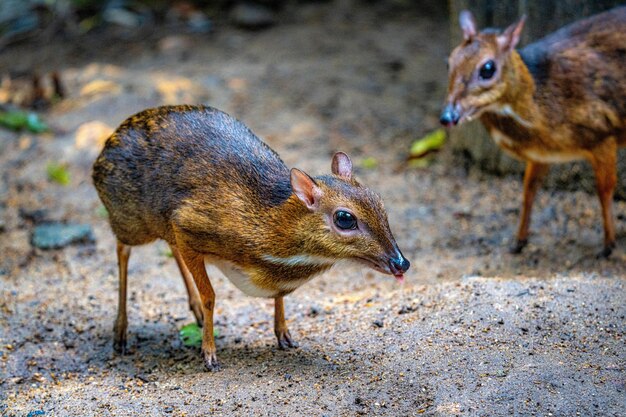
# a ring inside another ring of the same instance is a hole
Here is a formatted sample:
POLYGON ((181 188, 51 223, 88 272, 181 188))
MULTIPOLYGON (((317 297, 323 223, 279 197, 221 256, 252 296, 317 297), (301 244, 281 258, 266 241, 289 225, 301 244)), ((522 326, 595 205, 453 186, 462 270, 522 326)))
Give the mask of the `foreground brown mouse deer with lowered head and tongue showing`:
POLYGON ((337 261, 353 260, 402 279, 409 261, 391 234, 379 196, 338 152, 332 175, 292 168, 246 126, 203 106, 145 110, 107 140, 93 180, 117 237, 119 307, 114 347, 126 345, 131 247, 165 240, 203 323, 202 354, 217 367, 215 292, 205 261, 244 293, 275 300, 281 348, 294 347, 283 297, 337 261), (196 288, 199 293, 196 293, 196 288))

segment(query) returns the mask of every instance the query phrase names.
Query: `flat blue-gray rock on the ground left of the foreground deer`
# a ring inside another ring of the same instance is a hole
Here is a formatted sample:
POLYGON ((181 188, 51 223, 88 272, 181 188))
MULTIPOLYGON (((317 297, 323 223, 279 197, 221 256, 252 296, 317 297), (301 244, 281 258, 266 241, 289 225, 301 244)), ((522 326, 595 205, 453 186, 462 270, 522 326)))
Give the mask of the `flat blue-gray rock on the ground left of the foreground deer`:
POLYGON ((95 241, 88 224, 45 223, 35 227, 30 242, 39 249, 60 249, 73 243, 95 241))

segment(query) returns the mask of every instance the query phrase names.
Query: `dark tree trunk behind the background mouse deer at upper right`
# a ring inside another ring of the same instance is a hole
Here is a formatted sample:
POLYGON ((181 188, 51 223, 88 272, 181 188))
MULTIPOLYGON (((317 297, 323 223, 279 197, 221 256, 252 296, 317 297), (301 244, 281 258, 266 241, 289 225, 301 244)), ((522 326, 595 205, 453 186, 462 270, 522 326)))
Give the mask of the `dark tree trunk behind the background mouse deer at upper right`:
MULTIPOLYGON (((467 9, 476 18, 479 28, 504 29, 516 22, 523 14, 527 20, 522 34, 521 46, 538 40, 562 26, 583 17, 591 16, 619 4, 619 0, 450 0, 450 24, 452 48, 462 38, 459 28, 459 12, 467 9)), ((463 124, 452 130, 451 145, 459 158, 469 158, 472 165, 498 174, 522 173, 524 164, 505 155, 491 140, 478 121, 463 124)), ((616 197, 626 199, 626 149, 618 157, 618 186, 616 197)), ((545 180, 549 188, 585 189, 595 192, 595 179, 589 164, 575 162, 552 165, 545 180)))

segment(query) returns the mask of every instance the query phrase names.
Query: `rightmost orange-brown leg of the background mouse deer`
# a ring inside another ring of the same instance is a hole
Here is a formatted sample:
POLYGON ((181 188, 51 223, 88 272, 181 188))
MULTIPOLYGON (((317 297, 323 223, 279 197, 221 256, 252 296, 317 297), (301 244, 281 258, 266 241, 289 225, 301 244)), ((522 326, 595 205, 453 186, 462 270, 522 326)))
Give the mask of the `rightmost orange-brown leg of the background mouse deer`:
POLYGON ((613 223, 613 192, 617 184, 617 143, 614 137, 605 140, 593 150, 591 165, 596 174, 598 198, 602 206, 604 226, 604 249, 599 256, 608 257, 615 247, 615 224, 613 223))

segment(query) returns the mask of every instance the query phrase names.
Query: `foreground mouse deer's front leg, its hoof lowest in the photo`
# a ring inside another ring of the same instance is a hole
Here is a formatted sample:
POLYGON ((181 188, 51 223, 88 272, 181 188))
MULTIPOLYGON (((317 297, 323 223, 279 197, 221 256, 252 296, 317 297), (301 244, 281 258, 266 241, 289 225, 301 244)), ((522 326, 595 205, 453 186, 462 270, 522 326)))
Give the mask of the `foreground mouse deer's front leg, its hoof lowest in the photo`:
POLYGON ((196 287, 200 293, 202 302, 202 316, 204 324, 202 326, 202 357, 204 365, 209 371, 219 368, 215 349, 215 339, 213 338, 213 309, 215 308, 215 291, 211 286, 211 281, 204 267, 204 256, 190 249, 180 248, 181 259, 184 261, 189 272, 196 282, 196 287))

